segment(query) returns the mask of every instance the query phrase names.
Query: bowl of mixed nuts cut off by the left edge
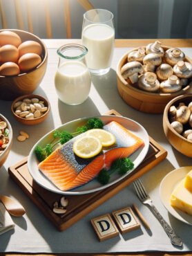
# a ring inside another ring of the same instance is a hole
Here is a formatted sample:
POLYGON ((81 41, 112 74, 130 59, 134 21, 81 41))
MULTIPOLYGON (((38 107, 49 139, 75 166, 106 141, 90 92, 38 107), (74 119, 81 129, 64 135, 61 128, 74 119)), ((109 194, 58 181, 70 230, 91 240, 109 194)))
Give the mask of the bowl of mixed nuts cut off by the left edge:
POLYGON ((0 114, 0 167, 8 158, 12 145, 12 127, 5 116, 0 114))

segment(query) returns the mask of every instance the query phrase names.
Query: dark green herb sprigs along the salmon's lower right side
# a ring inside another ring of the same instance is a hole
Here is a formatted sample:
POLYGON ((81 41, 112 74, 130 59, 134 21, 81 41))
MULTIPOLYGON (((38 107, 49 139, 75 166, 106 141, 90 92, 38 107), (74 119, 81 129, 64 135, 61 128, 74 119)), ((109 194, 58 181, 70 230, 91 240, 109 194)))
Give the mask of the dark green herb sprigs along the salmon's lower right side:
POLYGON ((106 185, 111 178, 113 172, 118 172, 120 175, 126 174, 131 171, 134 167, 134 163, 129 158, 119 158, 113 162, 110 170, 102 169, 97 176, 97 180, 102 185, 106 185))

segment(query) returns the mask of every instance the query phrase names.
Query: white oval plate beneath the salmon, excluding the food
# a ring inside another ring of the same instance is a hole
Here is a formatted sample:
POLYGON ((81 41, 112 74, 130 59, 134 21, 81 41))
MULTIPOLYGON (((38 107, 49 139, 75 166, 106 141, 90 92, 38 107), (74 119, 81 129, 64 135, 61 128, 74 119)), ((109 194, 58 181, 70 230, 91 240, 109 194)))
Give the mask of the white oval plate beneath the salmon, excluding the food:
MULTIPOLYGON (((143 161, 144 157, 146 156, 148 152, 148 146, 149 146, 149 138, 146 130, 142 125, 139 123, 128 119, 128 118, 123 118, 121 116, 97 116, 97 118, 100 118, 104 124, 111 122, 113 120, 119 122, 121 125, 126 127, 129 131, 133 132, 136 136, 142 138, 144 140, 144 147, 141 147, 140 149, 137 149, 137 151, 132 154, 129 158, 131 158, 131 161, 134 163, 134 169, 140 165, 140 163, 143 161)), ((61 125, 57 129, 60 131, 66 130, 73 132, 77 129, 77 127, 84 125, 86 120, 88 118, 81 118, 77 120, 73 120, 71 122, 67 122, 65 125, 61 125)), ((28 156, 28 170, 32 176, 32 178, 42 187, 46 188, 47 190, 50 190, 55 193, 59 194, 71 194, 71 195, 81 195, 81 194, 88 194, 91 192, 95 192, 98 190, 102 190, 104 188, 107 188, 108 186, 111 186, 118 181, 121 181, 124 179, 125 176, 130 174, 125 174, 123 176, 115 175, 111 176, 111 181, 107 185, 101 185, 97 179, 93 179, 93 181, 90 181, 89 183, 86 183, 85 185, 82 185, 79 188, 75 188, 73 190, 68 190, 68 191, 61 191, 59 190, 51 181, 49 181, 46 176, 44 176, 38 169, 38 164, 39 162, 37 161, 37 158, 35 156, 35 147, 37 145, 40 145, 44 147, 46 144, 50 143, 52 140, 52 133, 54 130, 50 131, 48 134, 46 134, 43 138, 41 138, 35 145, 32 147, 30 154, 28 156)))

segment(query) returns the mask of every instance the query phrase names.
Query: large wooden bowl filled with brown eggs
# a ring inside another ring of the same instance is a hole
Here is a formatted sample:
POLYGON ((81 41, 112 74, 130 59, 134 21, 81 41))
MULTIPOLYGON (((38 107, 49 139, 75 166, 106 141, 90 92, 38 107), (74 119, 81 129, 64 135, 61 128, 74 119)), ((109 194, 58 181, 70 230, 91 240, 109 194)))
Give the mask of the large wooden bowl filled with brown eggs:
POLYGON ((37 89, 48 51, 39 37, 23 30, 0 30, 0 100, 14 100, 37 89))

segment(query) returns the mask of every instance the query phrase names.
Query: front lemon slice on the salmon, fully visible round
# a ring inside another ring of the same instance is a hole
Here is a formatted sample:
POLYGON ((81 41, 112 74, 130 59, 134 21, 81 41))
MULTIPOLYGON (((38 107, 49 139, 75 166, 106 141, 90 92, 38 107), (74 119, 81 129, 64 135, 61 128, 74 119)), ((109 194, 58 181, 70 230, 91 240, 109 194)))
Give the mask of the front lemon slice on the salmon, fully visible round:
POLYGON ((93 136, 83 136, 73 144, 73 152, 81 158, 97 156, 102 151, 102 143, 93 136))

